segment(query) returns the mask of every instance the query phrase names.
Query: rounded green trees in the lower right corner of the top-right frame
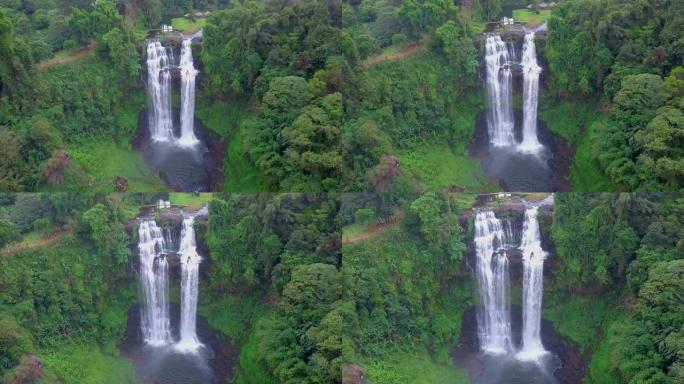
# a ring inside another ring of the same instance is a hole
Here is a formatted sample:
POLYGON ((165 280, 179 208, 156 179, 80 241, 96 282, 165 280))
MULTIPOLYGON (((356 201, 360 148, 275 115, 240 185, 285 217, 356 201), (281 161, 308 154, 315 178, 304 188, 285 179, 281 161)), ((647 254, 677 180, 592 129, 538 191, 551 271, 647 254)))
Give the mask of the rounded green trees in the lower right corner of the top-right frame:
POLYGON ((684 67, 663 79, 624 78, 596 156, 613 182, 627 190, 684 188, 684 67))

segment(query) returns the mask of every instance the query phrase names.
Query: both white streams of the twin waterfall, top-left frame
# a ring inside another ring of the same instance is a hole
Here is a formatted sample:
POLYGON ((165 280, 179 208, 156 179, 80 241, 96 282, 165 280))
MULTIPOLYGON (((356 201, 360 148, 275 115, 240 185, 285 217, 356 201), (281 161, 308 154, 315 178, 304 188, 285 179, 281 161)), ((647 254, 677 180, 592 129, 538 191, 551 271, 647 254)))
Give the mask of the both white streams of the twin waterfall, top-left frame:
POLYGON ((181 75, 181 129, 180 137, 173 130, 171 110, 171 69, 175 67, 173 49, 164 48, 159 41, 147 44, 147 91, 152 107, 149 111, 150 138, 153 141, 172 142, 192 147, 199 143, 194 132, 195 120, 195 69, 192 58, 192 39, 183 40, 178 69, 181 75))

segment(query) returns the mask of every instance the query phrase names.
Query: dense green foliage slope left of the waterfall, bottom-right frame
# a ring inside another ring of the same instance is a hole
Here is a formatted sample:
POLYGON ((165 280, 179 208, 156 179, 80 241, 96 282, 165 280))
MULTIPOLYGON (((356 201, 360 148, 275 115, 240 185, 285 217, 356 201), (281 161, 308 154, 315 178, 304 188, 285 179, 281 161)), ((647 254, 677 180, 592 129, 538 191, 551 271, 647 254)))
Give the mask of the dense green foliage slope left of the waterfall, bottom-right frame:
POLYGON ((407 200, 345 198, 343 218, 345 212, 355 210, 358 217, 372 210, 376 220, 393 211, 397 220, 406 212, 401 222, 368 239, 355 240, 345 231, 342 271, 347 300, 354 305, 347 325, 353 349, 346 357, 367 368, 371 383, 428 378, 447 383, 463 376, 453 369, 449 352, 459 343, 462 315, 472 298, 462 270, 464 230, 451 205, 448 196, 435 193, 407 200), (397 360, 414 359, 427 365, 428 376, 412 379, 409 370, 395 367, 397 360))

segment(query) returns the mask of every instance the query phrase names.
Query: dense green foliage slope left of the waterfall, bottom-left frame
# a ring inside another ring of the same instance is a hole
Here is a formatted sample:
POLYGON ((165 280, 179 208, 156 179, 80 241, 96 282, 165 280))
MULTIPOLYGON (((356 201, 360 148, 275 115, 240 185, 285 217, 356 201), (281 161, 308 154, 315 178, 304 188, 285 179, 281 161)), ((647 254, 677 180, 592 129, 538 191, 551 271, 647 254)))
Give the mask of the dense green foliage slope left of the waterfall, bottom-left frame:
POLYGON ((136 295, 127 269, 125 202, 78 194, 5 195, 2 201, 18 231, 57 226, 61 233, 47 245, 22 243, 28 249, 0 254, 0 377, 9 383, 41 376, 135 381, 132 365, 111 356, 136 295))

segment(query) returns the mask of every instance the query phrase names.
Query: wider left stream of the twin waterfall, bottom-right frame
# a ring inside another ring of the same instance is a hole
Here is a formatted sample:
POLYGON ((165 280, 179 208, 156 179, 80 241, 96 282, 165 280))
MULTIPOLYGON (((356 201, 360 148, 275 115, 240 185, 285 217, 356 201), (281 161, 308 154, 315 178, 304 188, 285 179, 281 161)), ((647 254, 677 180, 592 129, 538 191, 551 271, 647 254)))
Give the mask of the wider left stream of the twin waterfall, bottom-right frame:
POLYGON ((475 253, 481 305, 478 311, 478 335, 483 351, 505 354, 512 351, 509 302, 508 258, 505 248, 510 225, 502 225, 492 211, 475 217, 475 253))

